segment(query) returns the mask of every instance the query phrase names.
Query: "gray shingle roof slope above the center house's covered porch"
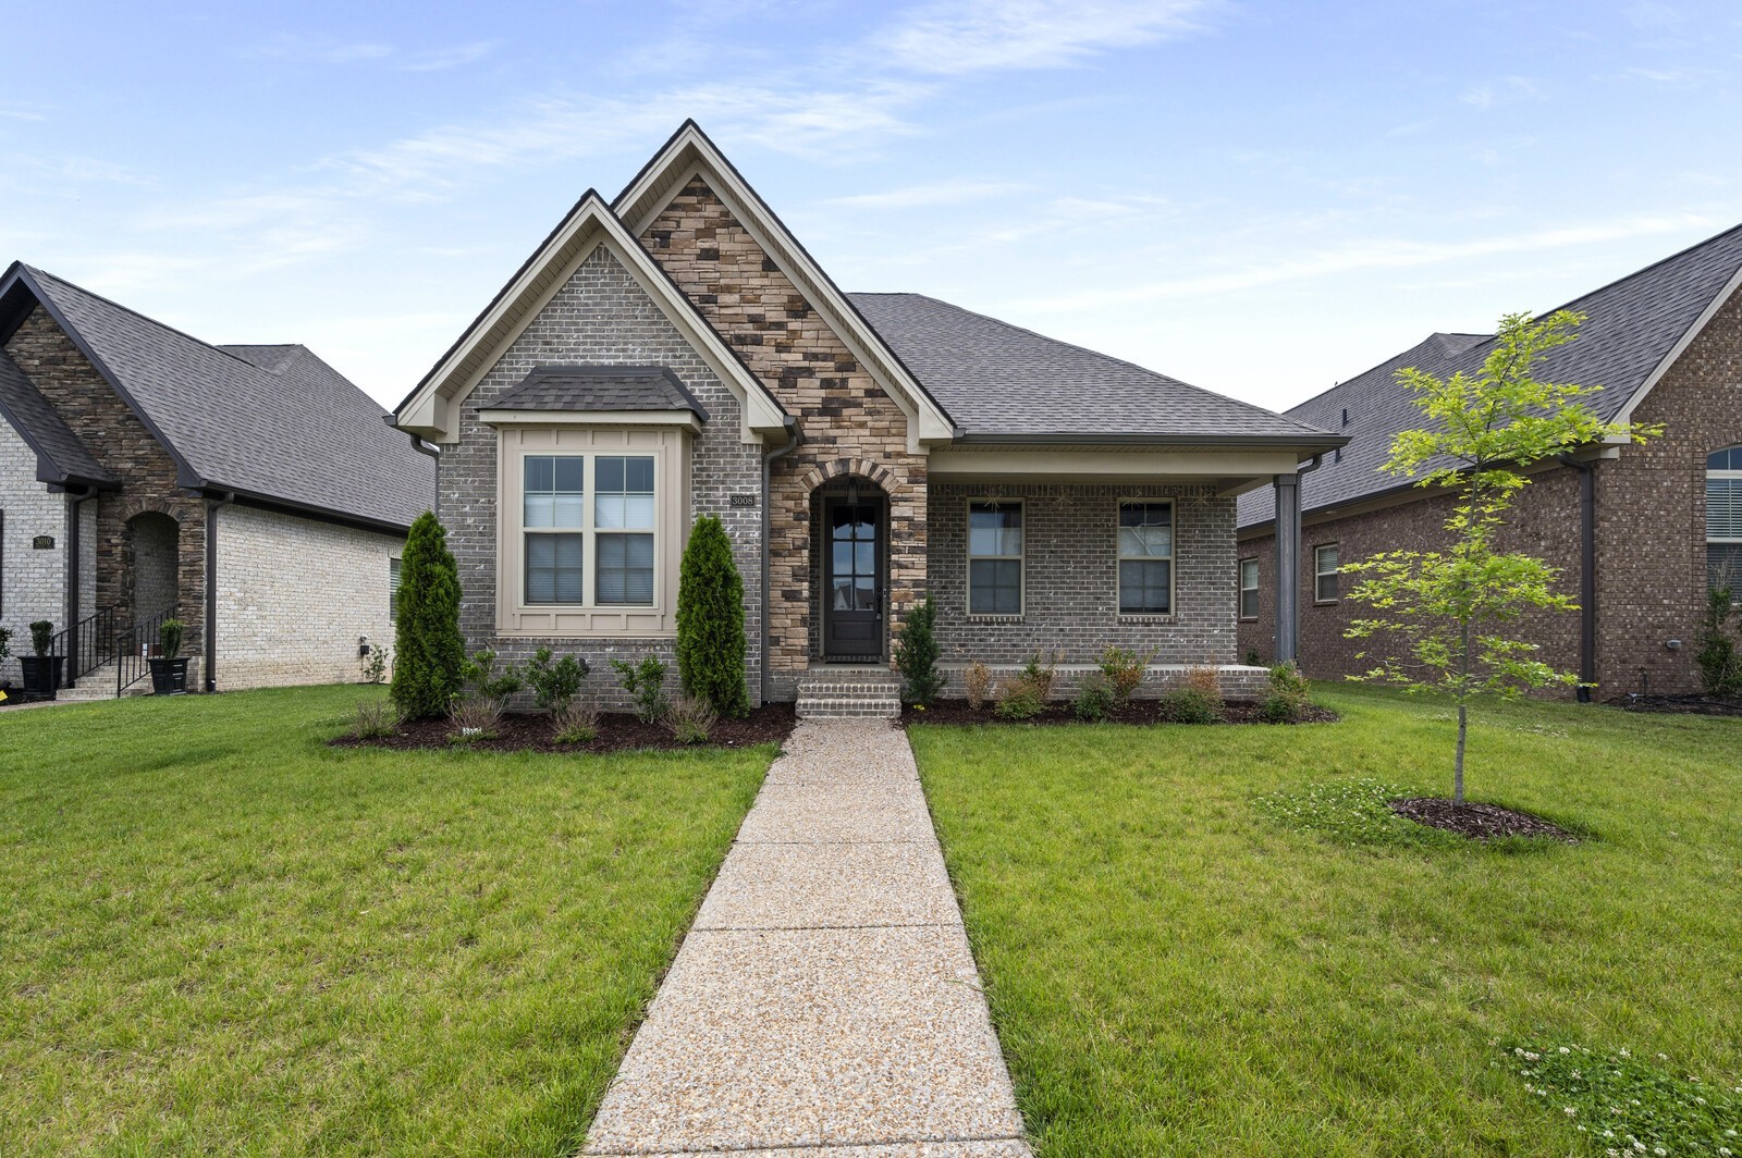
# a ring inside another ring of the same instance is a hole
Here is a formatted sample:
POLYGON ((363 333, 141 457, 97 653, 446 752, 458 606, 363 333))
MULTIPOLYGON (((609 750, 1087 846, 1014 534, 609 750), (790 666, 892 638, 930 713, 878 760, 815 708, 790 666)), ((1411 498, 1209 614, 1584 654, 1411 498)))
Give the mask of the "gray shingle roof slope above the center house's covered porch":
POLYGON ((848 294, 969 435, 1313 441, 1326 430, 923 294, 848 294))

